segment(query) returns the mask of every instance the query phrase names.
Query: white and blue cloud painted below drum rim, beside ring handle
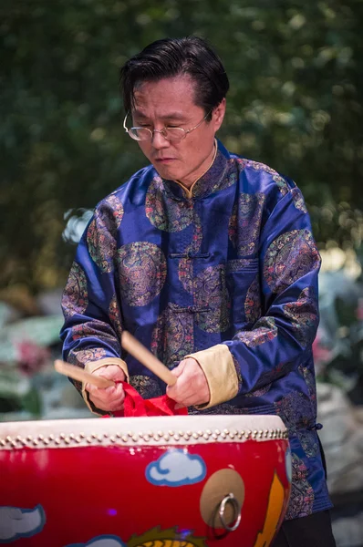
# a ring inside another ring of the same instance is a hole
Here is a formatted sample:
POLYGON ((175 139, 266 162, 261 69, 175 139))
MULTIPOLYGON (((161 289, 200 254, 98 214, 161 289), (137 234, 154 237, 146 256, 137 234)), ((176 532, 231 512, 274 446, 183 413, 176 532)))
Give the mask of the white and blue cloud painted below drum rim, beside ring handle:
POLYGON ((200 482, 206 472, 200 456, 188 454, 182 449, 171 449, 156 461, 151 461, 145 475, 156 486, 184 486, 200 482))

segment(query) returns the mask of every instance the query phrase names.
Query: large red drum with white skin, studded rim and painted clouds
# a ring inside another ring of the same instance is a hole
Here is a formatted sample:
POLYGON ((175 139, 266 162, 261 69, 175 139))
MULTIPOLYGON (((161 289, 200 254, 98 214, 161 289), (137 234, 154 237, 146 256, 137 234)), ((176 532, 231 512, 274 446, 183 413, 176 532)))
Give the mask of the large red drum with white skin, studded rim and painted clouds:
POLYGON ((0 543, 267 547, 290 492, 276 416, 0 424, 0 543))

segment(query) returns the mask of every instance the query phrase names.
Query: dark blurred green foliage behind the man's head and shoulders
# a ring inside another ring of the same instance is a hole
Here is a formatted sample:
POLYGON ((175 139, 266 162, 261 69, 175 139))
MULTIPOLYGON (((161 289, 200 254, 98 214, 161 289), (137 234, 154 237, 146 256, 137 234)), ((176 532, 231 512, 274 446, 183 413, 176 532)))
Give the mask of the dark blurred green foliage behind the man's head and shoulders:
POLYGON ((0 8, 0 285, 63 284, 65 213, 145 164, 119 67, 164 36, 206 37, 231 80, 220 137, 294 178, 318 242, 360 246, 360 0, 13 0, 0 8))

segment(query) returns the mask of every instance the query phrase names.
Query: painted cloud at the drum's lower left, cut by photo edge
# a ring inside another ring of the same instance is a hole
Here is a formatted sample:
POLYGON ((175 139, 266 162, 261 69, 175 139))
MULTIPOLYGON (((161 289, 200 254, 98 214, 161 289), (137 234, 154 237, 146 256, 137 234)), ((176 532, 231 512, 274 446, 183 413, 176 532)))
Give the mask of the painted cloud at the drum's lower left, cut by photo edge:
POLYGON ((16 542, 41 532, 46 523, 46 514, 41 505, 34 509, 0 507, 0 543, 16 542))

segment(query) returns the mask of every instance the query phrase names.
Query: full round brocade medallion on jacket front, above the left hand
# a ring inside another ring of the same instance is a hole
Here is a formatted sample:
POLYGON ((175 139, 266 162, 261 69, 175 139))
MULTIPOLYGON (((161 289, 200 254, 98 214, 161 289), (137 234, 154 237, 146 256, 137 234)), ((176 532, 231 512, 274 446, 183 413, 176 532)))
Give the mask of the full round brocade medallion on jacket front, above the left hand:
POLYGON ((154 243, 123 245, 117 254, 121 298, 129 305, 146 305, 160 294, 166 279, 166 259, 154 243))

